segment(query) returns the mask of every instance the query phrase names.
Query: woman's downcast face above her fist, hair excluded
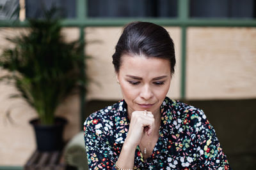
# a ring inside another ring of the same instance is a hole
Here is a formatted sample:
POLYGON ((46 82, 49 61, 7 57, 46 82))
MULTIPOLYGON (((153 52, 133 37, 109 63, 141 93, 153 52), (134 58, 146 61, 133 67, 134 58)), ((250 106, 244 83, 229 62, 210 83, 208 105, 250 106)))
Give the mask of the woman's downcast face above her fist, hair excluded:
POLYGON ((127 103, 128 113, 159 108, 170 87, 170 62, 156 57, 122 55, 116 79, 127 103))

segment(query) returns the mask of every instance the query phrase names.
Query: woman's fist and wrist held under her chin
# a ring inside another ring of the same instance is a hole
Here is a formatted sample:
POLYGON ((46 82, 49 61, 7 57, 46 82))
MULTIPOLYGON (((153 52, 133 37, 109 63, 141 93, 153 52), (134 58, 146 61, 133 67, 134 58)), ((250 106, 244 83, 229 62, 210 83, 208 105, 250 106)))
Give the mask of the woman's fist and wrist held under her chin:
POLYGON ((143 134, 148 136, 154 129, 154 115, 151 111, 134 111, 131 116, 131 123, 125 145, 135 147, 139 145, 143 134))

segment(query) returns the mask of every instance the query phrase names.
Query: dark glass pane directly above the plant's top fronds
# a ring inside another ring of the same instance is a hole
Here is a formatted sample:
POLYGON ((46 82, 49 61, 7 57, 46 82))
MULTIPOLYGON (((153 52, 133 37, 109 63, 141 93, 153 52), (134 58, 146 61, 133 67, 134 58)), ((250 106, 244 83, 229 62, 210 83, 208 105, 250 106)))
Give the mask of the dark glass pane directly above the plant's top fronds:
POLYGON ((76 1, 72 0, 26 0, 26 18, 42 18, 44 10, 52 6, 59 9, 62 18, 76 17, 76 1))

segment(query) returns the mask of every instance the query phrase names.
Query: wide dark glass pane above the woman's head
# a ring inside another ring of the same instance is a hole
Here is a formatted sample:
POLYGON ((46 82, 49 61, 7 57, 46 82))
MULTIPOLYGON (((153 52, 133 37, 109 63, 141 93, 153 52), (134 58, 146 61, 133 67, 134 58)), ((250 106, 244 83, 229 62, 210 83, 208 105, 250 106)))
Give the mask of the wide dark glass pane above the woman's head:
POLYGON ((88 0, 88 17, 177 17, 177 0, 88 0))

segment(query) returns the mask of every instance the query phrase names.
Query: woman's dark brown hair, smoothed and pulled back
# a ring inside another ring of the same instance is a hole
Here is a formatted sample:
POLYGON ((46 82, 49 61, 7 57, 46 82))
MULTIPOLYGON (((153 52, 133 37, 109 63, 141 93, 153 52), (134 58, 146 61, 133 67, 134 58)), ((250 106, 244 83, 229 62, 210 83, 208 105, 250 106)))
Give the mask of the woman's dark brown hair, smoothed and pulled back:
POLYGON ((168 59, 174 73, 175 51, 173 40, 163 27, 150 22, 131 22, 124 27, 113 54, 113 64, 118 73, 122 55, 145 55, 168 59))

